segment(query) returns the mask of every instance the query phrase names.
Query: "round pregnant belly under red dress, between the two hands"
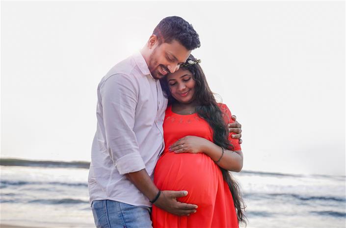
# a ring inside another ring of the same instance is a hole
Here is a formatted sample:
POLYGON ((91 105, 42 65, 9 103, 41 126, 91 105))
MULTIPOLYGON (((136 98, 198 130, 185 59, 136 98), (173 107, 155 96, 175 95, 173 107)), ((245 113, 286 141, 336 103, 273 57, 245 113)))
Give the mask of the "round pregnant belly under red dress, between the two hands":
POLYGON ((164 153, 155 168, 154 182, 160 190, 186 190, 180 202, 207 206, 214 202, 222 174, 204 153, 164 153))

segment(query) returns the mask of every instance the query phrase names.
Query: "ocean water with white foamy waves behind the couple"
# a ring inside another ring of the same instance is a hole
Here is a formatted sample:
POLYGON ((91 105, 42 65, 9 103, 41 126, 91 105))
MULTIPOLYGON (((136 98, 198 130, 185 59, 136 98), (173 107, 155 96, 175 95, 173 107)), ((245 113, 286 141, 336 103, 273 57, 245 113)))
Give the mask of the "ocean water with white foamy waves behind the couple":
MULTIPOLYGON (((89 205, 88 163, 0 159, 0 223, 95 227, 89 205)), ((345 176, 243 170, 248 228, 345 228, 345 176)), ((244 227, 244 225, 241 225, 244 227)))

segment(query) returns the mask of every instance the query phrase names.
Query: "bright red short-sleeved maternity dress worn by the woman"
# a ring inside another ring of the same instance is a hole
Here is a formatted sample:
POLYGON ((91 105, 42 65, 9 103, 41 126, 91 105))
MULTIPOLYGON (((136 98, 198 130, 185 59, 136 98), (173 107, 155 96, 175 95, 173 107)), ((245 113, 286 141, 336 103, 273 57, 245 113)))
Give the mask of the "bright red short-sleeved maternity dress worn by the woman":
MULTIPOLYGON (((225 121, 233 123, 231 112, 220 104, 225 121)), ((178 139, 194 135, 213 141, 213 129, 197 113, 180 115, 168 106, 163 122, 165 149, 155 168, 154 182, 160 190, 186 190, 186 197, 177 200, 198 205, 189 216, 176 216, 153 205, 154 228, 238 228, 236 209, 228 184, 220 168, 205 153, 174 153, 168 148, 178 139)), ((233 134, 233 133, 231 133, 233 134)), ((230 134, 230 136, 231 136, 230 134)), ((239 140, 229 136, 234 150, 239 140)), ((220 148, 221 155, 221 148, 220 148)))

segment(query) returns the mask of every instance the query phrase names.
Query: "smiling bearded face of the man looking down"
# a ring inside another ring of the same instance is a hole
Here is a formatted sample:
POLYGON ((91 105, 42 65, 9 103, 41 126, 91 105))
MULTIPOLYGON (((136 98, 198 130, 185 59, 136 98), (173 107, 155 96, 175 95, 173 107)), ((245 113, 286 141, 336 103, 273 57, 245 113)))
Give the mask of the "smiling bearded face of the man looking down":
POLYGON ((152 50, 148 67, 151 75, 156 79, 179 70, 180 65, 186 62, 191 53, 176 40, 170 44, 162 43, 159 45, 157 43, 152 50))

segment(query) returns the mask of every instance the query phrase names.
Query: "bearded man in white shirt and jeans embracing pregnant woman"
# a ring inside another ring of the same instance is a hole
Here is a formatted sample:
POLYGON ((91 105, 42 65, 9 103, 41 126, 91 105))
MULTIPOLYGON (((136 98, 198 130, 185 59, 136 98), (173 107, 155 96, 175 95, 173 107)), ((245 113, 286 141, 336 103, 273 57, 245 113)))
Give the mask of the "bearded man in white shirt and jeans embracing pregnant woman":
POLYGON ((199 47, 192 25, 180 17, 167 17, 140 52, 102 78, 88 177, 98 228, 150 228, 151 203, 177 215, 196 211, 197 205, 177 202, 186 191, 159 191, 152 177, 164 148, 167 106, 158 79, 178 70, 199 47))

